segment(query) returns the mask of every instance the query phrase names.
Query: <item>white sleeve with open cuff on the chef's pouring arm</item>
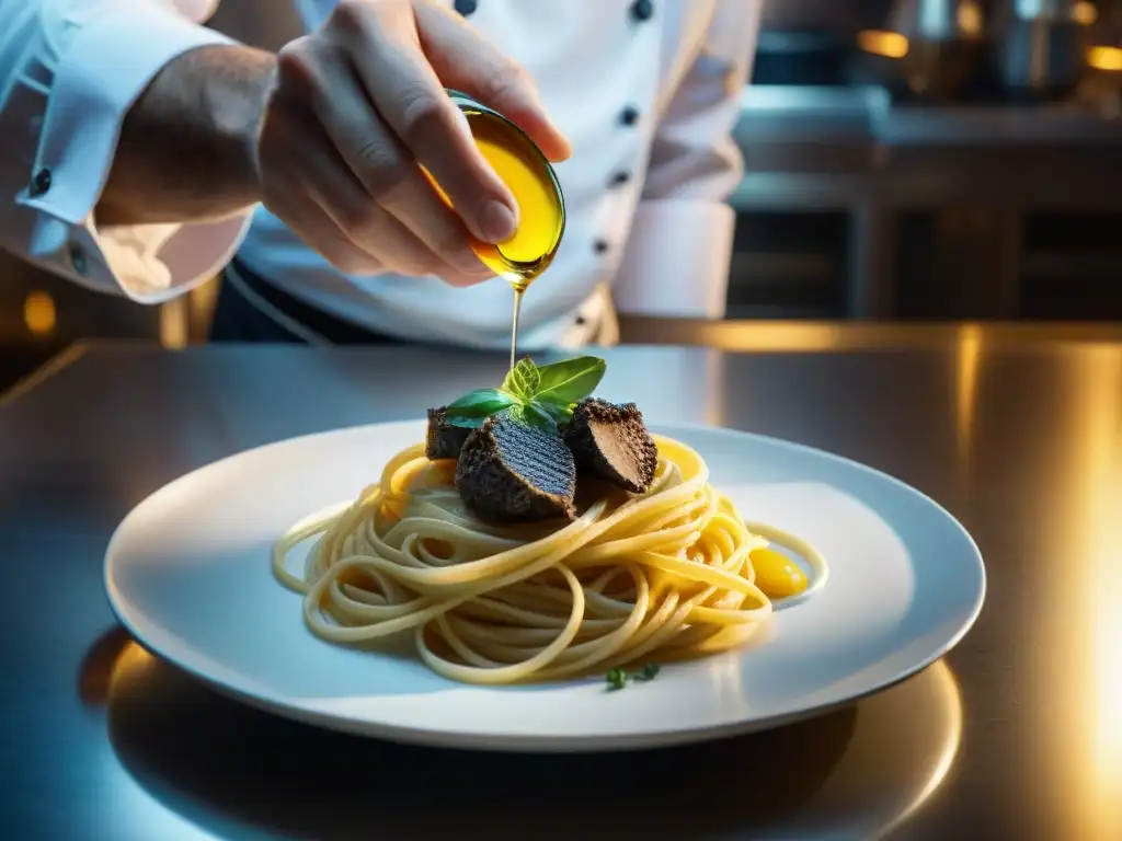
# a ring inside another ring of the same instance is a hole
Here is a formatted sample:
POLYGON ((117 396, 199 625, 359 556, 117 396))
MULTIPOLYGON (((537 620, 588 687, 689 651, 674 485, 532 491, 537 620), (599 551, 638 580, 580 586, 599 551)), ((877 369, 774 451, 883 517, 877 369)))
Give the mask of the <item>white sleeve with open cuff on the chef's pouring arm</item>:
POLYGON ((211 276, 249 210, 190 224, 100 228, 121 123, 159 70, 231 44, 217 0, 0 0, 0 247, 99 292, 160 303, 211 276))

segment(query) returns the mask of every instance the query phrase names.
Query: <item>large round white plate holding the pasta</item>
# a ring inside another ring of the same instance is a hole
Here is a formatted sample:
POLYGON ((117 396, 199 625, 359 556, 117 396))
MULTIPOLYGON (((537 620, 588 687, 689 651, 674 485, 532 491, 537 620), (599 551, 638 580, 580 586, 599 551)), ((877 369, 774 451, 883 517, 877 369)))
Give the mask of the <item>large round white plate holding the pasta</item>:
POLYGON ((693 446, 749 520, 794 532, 829 580, 773 617, 765 641, 665 667, 650 683, 476 687, 410 657, 334 646, 304 627, 269 570, 277 535, 376 481, 423 423, 361 426, 250 450, 188 473, 118 527, 105 586, 148 648, 215 687, 302 721, 493 750, 605 750, 701 741, 884 688, 951 648, 982 608, 985 571, 949 514, 854 462, 773 438, 655 426, 693 446))

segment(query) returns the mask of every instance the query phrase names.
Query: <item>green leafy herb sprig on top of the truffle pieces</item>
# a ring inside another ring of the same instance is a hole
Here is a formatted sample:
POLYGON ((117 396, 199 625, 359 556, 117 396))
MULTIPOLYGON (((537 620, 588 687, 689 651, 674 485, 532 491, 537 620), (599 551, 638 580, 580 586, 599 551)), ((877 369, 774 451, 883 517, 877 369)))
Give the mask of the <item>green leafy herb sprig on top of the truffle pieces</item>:
POLYGON ((607 363, 576 357, 539 368, 528 357, 511 369, 499 388, 480 388, 447 407, 448 423, 476 429, 491 415, 508 412, 521 423, 557 429, 572 419, 578 403, 600 383, 607 363))

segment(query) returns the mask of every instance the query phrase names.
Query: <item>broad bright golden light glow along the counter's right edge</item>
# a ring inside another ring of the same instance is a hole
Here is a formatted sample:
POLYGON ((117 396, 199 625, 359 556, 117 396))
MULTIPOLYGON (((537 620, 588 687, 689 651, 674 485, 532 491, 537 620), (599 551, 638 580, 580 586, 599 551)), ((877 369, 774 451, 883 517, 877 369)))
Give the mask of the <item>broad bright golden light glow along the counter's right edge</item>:
MULTIPOLYGON (((1122 838, 1122 349, 1082 344, 1066 353, 1066 394, 1052 500, 1039 552, 1042 600, 1030 621, 1029 655, 1041 717, 1041 797, 1056 816, 1050 834, 1122 838), (1058 492, 1057 492, 1058 491, 1058 492)), ((1047 456, 1042 456, 1047 458, 1047 456)), ((1049 833, 1046 833, 1049 834, 1049 833)))

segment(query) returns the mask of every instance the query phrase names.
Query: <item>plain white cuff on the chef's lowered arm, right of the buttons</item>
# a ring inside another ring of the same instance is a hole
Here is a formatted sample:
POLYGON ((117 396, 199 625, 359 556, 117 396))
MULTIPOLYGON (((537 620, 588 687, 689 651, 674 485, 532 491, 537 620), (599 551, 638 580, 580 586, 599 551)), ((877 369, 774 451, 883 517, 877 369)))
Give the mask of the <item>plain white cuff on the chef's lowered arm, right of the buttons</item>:
POLYGON ((631 315, 723 318, 736 214, 727 204, 662 200, 640 204, 613 284, 631 315))

